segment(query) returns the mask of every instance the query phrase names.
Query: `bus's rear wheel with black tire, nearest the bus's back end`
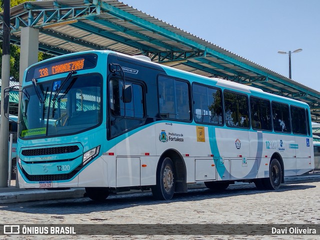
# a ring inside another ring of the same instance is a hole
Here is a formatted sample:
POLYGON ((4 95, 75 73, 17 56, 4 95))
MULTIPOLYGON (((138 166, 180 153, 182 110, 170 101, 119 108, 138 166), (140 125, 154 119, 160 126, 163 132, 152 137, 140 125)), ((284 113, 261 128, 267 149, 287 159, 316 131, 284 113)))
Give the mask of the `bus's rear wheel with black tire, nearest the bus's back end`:
POLYGON ((282 180, 281 165, 277 159, 272 159, 269 167, 269 177, 263 179, 263 185, 268 190, 279 189, 282 180))

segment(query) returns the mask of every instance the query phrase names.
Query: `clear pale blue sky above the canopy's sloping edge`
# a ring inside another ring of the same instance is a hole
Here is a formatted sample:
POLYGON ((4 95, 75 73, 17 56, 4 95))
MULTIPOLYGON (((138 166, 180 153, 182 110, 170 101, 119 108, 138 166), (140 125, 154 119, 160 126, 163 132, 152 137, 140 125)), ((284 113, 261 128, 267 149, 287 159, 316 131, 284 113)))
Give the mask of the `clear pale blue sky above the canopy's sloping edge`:
POLYGON ((320 0, 122 1, 320 91, 320 0))

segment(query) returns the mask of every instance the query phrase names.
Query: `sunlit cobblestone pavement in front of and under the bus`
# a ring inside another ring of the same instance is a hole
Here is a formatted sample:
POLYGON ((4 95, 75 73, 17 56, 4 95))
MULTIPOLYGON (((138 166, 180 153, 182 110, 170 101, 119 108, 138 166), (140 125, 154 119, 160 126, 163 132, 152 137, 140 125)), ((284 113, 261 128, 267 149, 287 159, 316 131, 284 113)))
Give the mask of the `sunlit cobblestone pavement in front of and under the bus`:
MULTIPOLYGON (((314 180, 313 180, 314 181, 314 180)), ((195 189, 155 201, 150 192, 111 195, 103 203, 88 198, 0 205, 1 224, 320 224, 320 182, 282 185, 258 191, 253 184, 221 193, 195 189)), ((289 227, 289 226, 288 226, 289 227)), ((13 239, 244 240, 319 239, 318 236, 1 236, 13 239)))

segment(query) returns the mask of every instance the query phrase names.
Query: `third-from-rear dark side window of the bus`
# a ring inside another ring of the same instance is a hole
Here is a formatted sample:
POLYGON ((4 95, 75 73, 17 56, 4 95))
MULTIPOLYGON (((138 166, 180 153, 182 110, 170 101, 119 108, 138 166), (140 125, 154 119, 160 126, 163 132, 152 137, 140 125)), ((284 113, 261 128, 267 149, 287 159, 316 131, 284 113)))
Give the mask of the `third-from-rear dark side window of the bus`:
POLYGON ((272 130, 270 102, 257 97, 250 98, 251 126, 254 130, 272 130))

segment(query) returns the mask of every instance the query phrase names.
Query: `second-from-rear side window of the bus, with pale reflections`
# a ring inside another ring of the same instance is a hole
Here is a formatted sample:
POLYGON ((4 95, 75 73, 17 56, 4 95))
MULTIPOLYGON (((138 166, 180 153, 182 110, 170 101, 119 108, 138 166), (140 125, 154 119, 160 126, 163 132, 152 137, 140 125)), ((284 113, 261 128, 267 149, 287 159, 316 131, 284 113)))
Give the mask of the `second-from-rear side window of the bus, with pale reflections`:
POLYGON ((272 120, 275 132, 291 132, 289 106, 287 104, 272 102, 272 120))

